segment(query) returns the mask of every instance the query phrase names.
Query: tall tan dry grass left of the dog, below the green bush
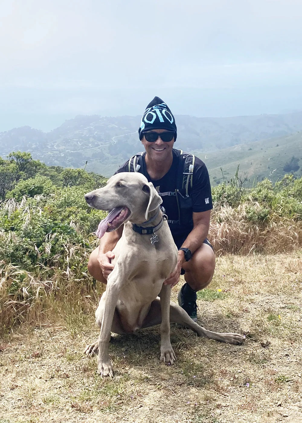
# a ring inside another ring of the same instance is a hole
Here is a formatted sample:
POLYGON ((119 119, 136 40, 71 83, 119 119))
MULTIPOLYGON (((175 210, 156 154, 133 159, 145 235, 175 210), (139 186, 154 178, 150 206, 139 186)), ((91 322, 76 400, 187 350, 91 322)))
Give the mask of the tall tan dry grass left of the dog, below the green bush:
MULTIPOLYGON (((91 248, 66 245, 60 259, 64 266, 36 266, 33 272, 0 261, 0 335, 8 333, 20 323, 38 325, 52 320, 60 309, 74 308, 77 313, 90 313, 104 286, 87 272, 91 248), (70 262, 72 261, 72 267, 70 262), (85 272, 83 272, 85 264, 85 272)), ((57 260, 58 261, 58 260, 57 260)))

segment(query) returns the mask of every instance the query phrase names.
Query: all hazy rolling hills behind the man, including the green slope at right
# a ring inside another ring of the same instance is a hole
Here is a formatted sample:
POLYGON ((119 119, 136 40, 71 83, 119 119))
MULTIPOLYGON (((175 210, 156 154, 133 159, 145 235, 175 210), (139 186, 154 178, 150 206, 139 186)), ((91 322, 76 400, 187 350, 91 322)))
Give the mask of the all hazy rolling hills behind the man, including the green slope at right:
MULTIPOLYGON (((47 133, 29 126, 14 128, 0 133, 0 156, 29 151, 47 165, 77 168, 87 162, 87 170, 111 176, 142 149, 137 135, 139 123, 140 116, 80 115, 47 133)), ((175 147, 201 157, 213 181, 221 179, 220 167, 229 177, 238 163, 240 172, 250 179, 270 174, 272 178, 280 177, 292 156, 301 158, 298 131, 302 130, 302 112, 233 118, 178 115, 176 123, 175 147)))

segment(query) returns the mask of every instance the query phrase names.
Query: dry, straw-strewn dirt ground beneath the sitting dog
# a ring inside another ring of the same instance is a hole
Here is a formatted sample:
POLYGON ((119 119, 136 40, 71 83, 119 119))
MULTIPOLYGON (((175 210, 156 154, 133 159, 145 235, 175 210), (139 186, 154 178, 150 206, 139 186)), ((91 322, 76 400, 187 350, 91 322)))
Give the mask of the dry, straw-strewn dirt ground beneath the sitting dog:
POLYGON ((245 344, 171 325, 177 361, 167 366, 159 327, 113 335, 112 380, 82 354, 98 336, 94 316, 20 327, 0 341, 0 423, 302 422, 301 291, 301 252, 218 258, 199 323, 243 332, 245 344))

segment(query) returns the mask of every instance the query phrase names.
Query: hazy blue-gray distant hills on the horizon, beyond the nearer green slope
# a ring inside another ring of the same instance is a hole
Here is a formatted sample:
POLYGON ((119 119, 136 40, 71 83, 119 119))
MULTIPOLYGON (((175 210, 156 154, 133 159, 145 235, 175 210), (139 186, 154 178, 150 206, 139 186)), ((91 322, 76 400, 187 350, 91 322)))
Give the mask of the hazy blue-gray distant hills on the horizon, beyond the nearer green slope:
MULTIPOLYGON (((5 157, 9 152, 16 150, 29 151, 33 158, 40 159, 47 165, 66 167, 83 167, 87 161, 86 169, 110 176, 128 157, 141 151, 142 146, 137 134, 139 124, 140 116, 80 115, 47 133, 29 126, 14 128, 0 133, 0 156, 5 157)), ((233 147, 240 146, 242 157, 245 157, 247 162, 246 157, 250 157, 251 150, 247 149, 245 152, 243 144, 254 144, 272 137, 285 137, 302 130, 302 112, 233 118, 178 115, 176 124, 176 148, 197 151, 200 157, 204 157, 204 153, 209 151, 216 151, 217 157, 220 157, 219 150, 226 149, 221 155, 222 159, 225 159, 225 154, 229 152, 236 162, 237 156, 233 154, 233 147)), ((218 161, 216 164, 213 162, 213 166, 213 169, 220 168, 218 161)), ((264 164, 261 163, 261 166, 264 164)), ((257 166, 254 166, 255 172, 258 171, 256 168, 257 166)), ((260 170, 262 177, 262 168, 260 170)), ((252 174, 255 174, 254 171, 252 174)))

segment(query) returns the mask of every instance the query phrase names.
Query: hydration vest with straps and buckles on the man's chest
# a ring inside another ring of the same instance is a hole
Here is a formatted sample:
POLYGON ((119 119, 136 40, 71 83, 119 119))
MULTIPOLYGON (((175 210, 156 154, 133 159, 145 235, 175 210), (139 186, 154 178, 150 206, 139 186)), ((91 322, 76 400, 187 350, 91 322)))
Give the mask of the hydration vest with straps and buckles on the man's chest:
MULTIPOLYGON (((191 197, 191 190, 193 186, 193 170, 195 156, 194 154, 186 153, 182 150, 178 151, 180 152, 180 154, 177 169, 176 190, 158 192, 158 194, 161 197, 176 196, 178 206, 178 220, 167 220, 171 228, 175 228, 177 225, 193 227, 193 200, 191 197)), ((145 155, 146 151, 142 151, 132 156, 128 162, 128 172, 143 173, 143 157, 145 155)))

